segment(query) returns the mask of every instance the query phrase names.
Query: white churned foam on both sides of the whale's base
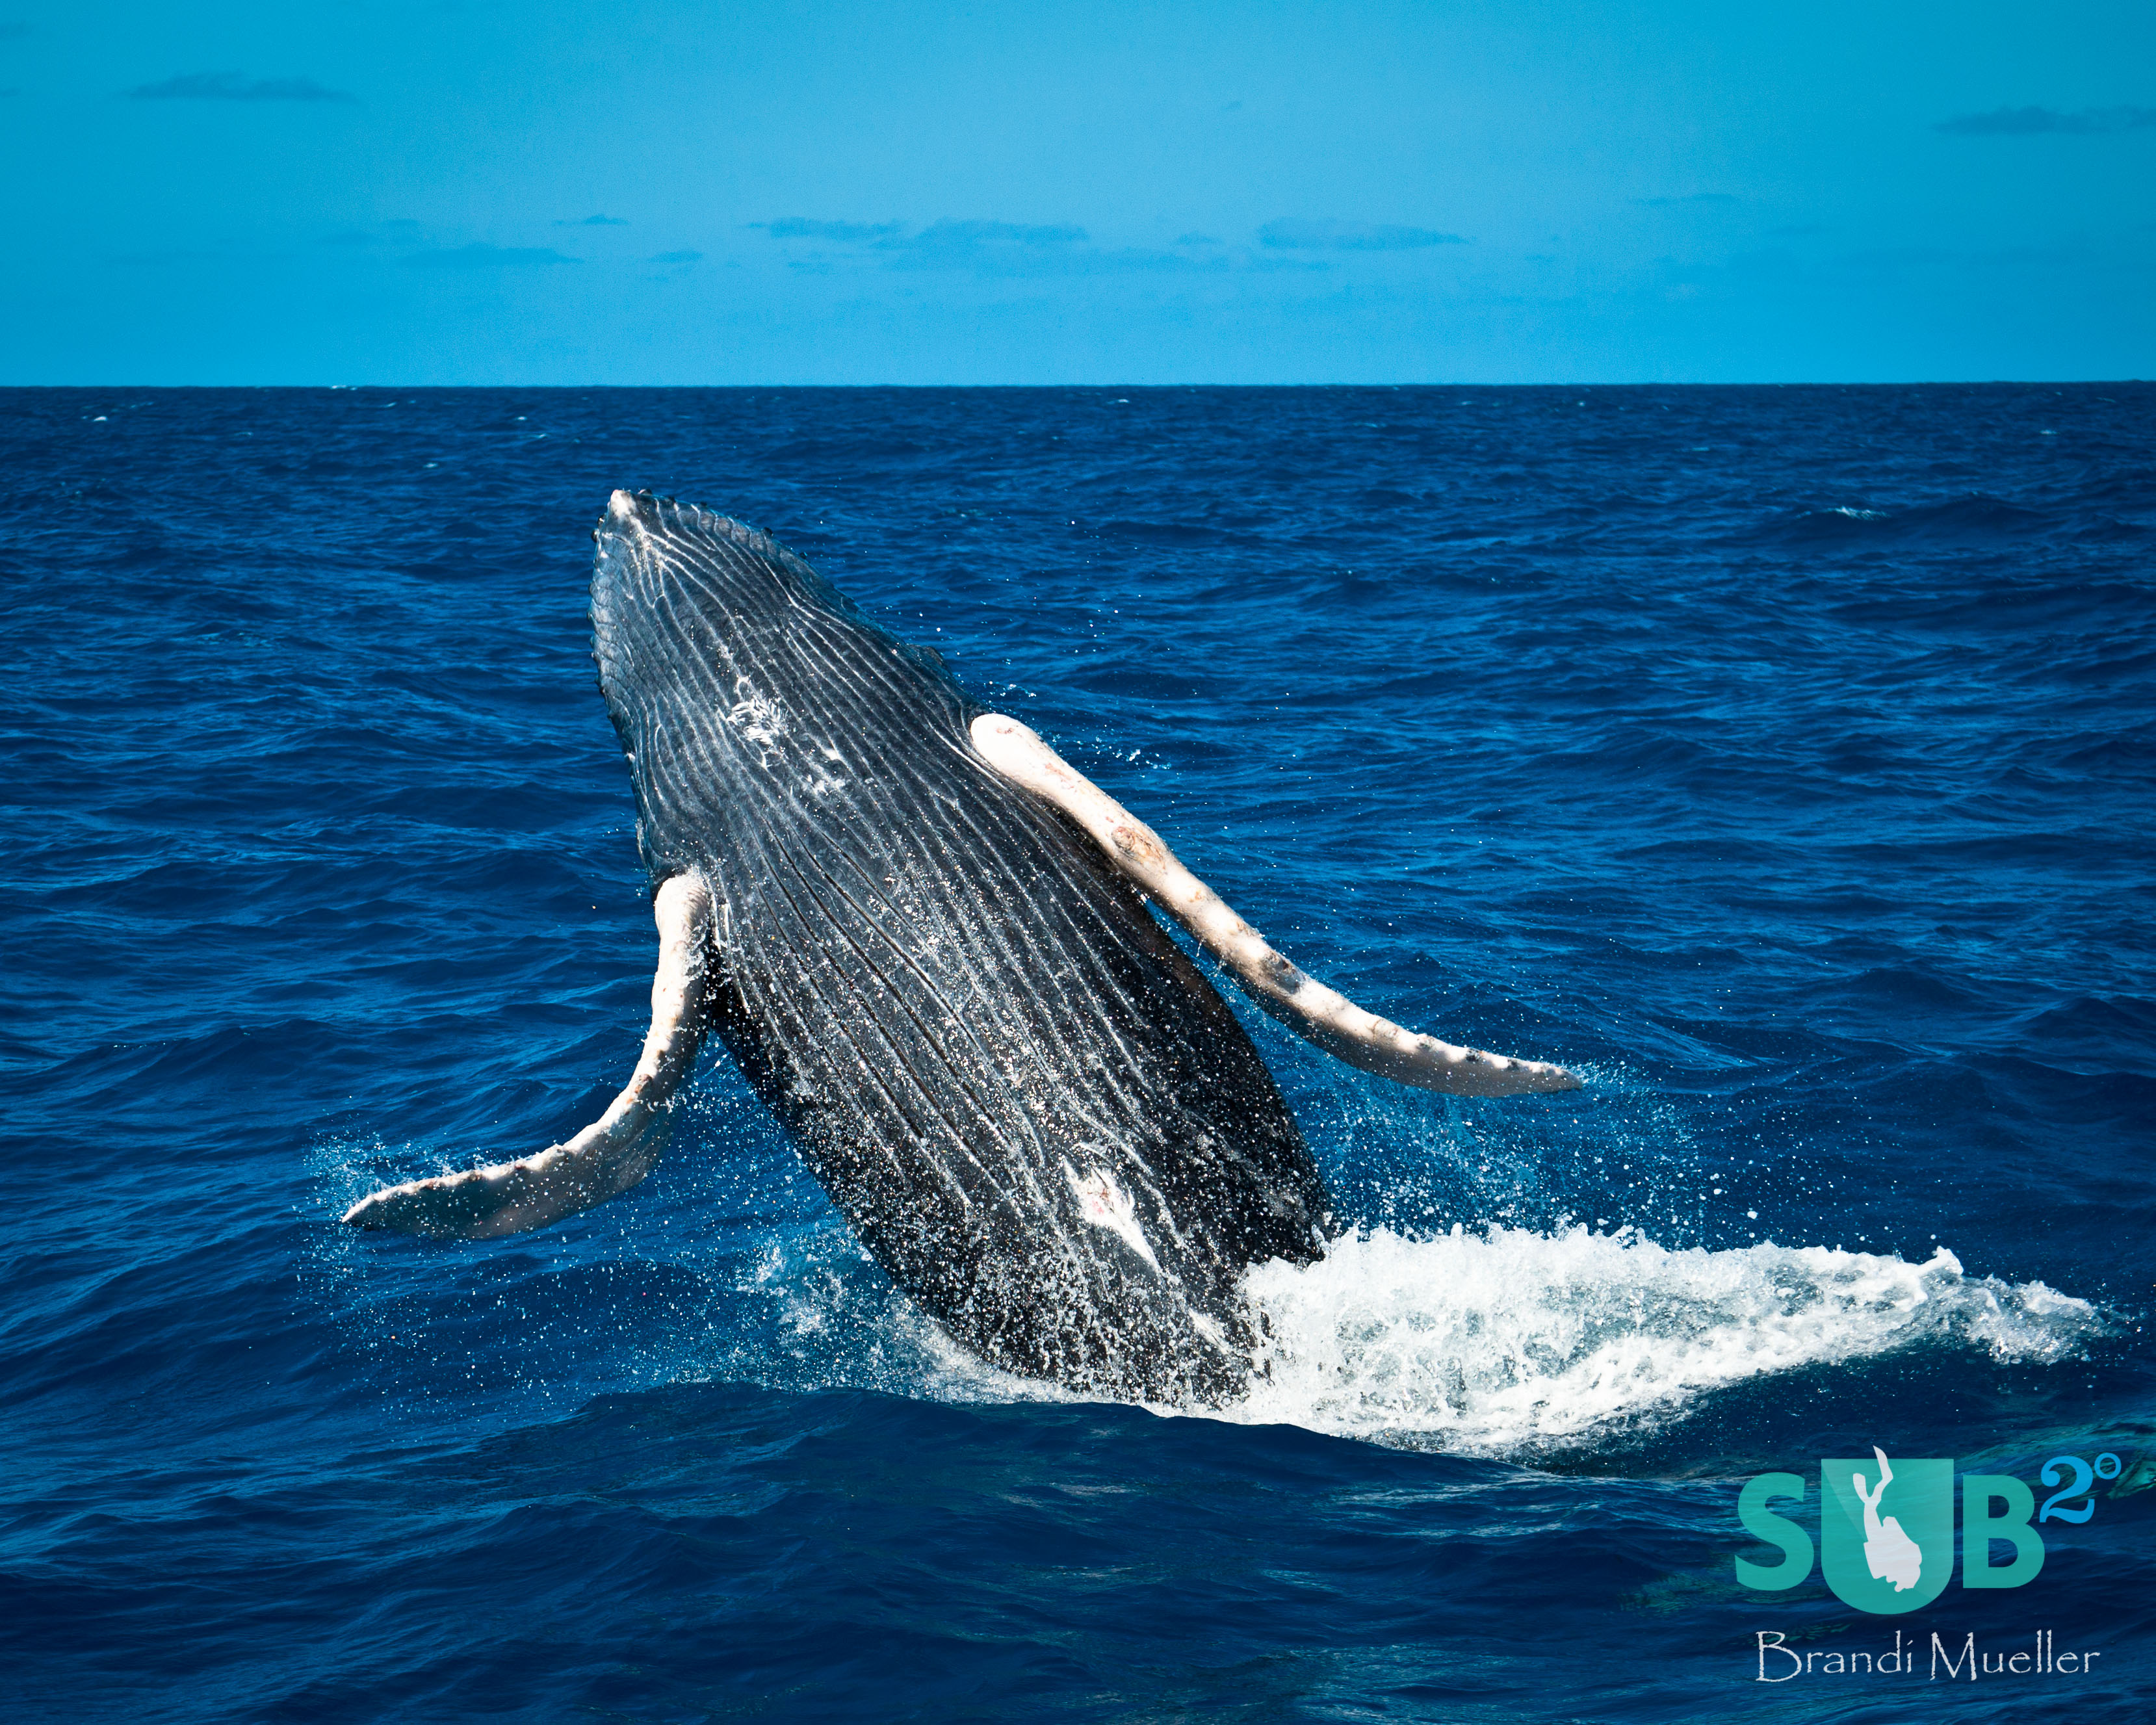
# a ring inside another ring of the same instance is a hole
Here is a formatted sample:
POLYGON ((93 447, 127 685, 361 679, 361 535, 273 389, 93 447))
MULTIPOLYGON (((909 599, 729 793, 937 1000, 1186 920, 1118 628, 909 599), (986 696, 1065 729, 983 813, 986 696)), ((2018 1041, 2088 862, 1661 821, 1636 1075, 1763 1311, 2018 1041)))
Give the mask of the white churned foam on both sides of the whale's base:
MULTIPOLYGON (((776 1300, 776 1322, 722 1376, 938 1402, 1089 1399, 975 1358, 869 1274, 839 1227, 768 1253, 750 1283, 742 1292, 776 1300)), ((1373 1229, 1307 1268, 1261 1266, 1246 1292, 1263 1374, 1205 1417, 1522 1460, 1647 1436, 1774 1374, 1923 1348, 2061 1361, 2106 1328, 2087 1300, 1971 1276, 1945 1248, 1910 1264, 1772 1242, 1671 1248, 1587 1227, 1373 1229)))

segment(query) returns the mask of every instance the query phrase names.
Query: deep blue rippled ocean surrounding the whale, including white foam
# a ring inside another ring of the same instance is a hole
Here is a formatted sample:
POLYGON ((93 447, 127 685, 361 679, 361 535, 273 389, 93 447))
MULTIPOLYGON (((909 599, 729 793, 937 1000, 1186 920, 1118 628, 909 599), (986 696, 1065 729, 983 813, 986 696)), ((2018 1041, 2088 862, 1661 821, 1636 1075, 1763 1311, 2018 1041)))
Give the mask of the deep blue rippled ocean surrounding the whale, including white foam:
POLYGON ((9 1721, 2156 1714, 2156 386, 4 390, 0 455, 9 1721), (617 485, 1591 1082, 1246 1013, 1354 1229, 1225 1414, 968 1361, 716 1046, 608 1205, 341 1229, 636 1061, 617 485), (1874 1445, 2115 1468, 2024 1587, 1740 1585, 1742 1481, 1818 1533, 1874 1445))

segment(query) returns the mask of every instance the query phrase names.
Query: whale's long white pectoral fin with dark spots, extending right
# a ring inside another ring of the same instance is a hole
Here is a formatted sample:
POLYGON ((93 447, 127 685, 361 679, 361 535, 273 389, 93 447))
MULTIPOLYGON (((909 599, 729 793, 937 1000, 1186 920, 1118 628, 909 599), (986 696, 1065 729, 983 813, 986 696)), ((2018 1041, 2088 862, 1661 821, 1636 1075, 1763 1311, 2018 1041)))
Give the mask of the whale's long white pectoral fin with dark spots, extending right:
POLYGON ((1259 1007, 1328 1054, 1380 1078, 1451 1095, 1522 1095, 1580 1087, 1580 1080, 1561 1065, 1516 1061, 1416 1035, 1363 1011, 1315 977, 1304 977, 1266 944, 1266 936, 1229 910, 1218 893, 1177 862, 1153 828, 1015 718, 981 714, 972 722, 972 746, 1013 785, 1046 798, 1078 822, 1108 860, 1190 929, 1259 1007))

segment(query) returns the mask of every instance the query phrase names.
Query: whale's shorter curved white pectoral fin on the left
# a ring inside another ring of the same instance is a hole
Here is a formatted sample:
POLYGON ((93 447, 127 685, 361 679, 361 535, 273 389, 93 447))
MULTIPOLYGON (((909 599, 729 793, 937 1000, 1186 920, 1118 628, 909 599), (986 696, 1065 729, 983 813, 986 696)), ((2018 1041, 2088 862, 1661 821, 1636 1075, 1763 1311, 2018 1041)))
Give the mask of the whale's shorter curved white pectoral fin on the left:
POLYGON ((666 1104, 694 1067, 703 1035, 711 893, 696 875, 671 875, 651 914, 660 925, 651 1035, 612 1106, 569 1143, 537 1156, 371 1192, 345 1212, 347 1223, 438 1240, 498 1240, 589 1210, 651 1173, 664 1149, 666 1104))

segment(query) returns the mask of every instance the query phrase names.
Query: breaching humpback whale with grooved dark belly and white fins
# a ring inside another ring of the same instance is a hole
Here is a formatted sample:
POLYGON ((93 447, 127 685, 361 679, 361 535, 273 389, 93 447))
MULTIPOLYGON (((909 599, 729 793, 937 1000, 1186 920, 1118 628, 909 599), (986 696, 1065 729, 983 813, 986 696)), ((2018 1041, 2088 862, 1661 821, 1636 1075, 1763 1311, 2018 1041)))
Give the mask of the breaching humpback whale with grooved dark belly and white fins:
POLYGON ((890 1279, 1009 1371, 1151 1402, 1248 1378, 1242 1274, 1328 1199, 1250 1037, 1147 901, 1272 1016, 1388 1078, 1572 1089, 1302 975, 1160 837, 763 533, 614 492, 599 688, 653 882, 651 1033, 567 1143, 345 1220, 485 1240, 658 1160, 705 1031, 890 1279))

